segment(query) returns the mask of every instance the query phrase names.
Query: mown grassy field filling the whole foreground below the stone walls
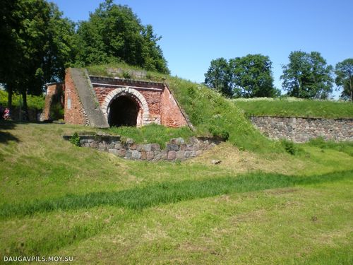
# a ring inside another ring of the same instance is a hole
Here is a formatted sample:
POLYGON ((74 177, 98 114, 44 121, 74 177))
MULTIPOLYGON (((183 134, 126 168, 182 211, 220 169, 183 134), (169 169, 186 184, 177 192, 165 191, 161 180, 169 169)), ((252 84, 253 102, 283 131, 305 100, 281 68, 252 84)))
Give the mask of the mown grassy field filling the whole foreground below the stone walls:
POLYGON ((0 262, 352 264, 352 143, 147 163, 61 137, 87 130, 0 124, 0 262))

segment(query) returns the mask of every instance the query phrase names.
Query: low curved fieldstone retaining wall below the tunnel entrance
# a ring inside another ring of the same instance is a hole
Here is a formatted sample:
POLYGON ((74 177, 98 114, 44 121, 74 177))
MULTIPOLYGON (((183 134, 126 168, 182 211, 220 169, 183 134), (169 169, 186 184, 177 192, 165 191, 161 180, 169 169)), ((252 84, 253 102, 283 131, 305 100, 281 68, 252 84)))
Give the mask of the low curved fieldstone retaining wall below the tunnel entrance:
MULTIPOLYGON (((68 140, 71 136, 63 136, 68 140)), ((158 143, 134 143, 133 139, 122 141, 120 136, 81 135, 80 146, 95 148, 113 153, 121 158, 132 160, 186 160, 201 155, 203 151, 220 143, 219 139, 191 137, 186 143, 184 139, 170 139, 164 149, 158 143)))

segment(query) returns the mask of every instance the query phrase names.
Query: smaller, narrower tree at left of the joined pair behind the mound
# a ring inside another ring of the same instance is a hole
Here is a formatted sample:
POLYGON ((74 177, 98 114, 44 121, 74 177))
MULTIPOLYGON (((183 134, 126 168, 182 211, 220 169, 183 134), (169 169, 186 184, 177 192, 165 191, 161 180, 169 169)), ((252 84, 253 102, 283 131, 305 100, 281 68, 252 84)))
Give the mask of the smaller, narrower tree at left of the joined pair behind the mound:
POLYGON ((211 65, 205 73, 205 85, 219 91, 226 97, 232 98, 232 73, 225 58, 211 61, 211 65))

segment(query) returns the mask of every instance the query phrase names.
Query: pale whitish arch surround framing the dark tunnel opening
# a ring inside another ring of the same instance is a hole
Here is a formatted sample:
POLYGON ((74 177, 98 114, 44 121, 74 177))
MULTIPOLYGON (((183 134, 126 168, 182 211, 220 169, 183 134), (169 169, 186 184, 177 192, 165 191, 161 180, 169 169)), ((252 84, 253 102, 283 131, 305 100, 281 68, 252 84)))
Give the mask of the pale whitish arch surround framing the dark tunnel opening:
POLYGON ((128 87, 116 88, 104 98, 104 101, 102 103, 102 112, 104 114, 104 117, 107 119, 107 122, 109 117, 110 105, 116 98, 120 96, 131 98, 131 100, 134 100, 139 106, 140 112, 138 114, 138 121, 136 122, 136 126, 143 126, 149 123, 150 111, 148 109, 147 101, 145 100, 143 95, 138 92, 138 90, 128 87))

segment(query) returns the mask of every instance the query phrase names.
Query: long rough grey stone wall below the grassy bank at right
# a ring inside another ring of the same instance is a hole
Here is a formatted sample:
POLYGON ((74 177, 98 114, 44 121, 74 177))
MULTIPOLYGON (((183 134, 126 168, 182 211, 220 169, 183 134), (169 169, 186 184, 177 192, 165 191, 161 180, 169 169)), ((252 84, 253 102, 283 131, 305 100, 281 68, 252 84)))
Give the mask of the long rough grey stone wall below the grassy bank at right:
POLYGON ((288 139, 296 143, 317 137, 353 141, 353 119, 251 117, 251 122, 270 139, 288 139))

